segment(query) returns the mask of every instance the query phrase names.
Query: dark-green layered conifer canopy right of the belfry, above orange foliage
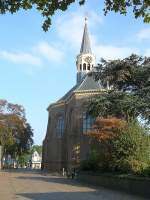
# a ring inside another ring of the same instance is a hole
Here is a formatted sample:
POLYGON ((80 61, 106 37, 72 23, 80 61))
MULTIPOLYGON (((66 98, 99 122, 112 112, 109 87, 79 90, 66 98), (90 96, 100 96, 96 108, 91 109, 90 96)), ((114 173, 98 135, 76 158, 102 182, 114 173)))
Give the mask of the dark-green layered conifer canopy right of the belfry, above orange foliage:
POLYGON ((109 90, 89 106, 94 116, 141 119, 150 123, 150 58, 131 55, 125 59, 102 60, 95 78, 109 90))

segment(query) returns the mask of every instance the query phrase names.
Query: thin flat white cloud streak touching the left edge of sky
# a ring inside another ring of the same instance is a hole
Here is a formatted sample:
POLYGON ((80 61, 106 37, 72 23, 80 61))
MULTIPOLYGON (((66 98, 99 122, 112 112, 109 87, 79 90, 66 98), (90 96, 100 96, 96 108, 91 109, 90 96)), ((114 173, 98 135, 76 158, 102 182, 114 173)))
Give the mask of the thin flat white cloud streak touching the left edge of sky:
POLYGON ((42 61, 37 56, 26 52, 11 52, 6 50, 0 50, 0 57, 7 61, 18 64, 29 64, 29 65, 41 65, 42 61))

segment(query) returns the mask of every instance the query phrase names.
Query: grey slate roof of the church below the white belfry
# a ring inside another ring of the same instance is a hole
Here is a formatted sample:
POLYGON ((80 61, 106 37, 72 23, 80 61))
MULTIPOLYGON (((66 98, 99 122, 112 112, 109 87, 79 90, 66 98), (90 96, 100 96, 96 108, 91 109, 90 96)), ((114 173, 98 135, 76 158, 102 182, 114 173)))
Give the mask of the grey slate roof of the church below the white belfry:
POLYGON ((88 91, 95 91, 95 90, 99 91, 101 89, 102 89, 102 86, 100 82, 95 81, 91 73, 89 73, 82 79, 82 81, 79 84, 75 85, 56 103, 66 101, 73 93, 76 93, 76 92, 88 92, 88 91))

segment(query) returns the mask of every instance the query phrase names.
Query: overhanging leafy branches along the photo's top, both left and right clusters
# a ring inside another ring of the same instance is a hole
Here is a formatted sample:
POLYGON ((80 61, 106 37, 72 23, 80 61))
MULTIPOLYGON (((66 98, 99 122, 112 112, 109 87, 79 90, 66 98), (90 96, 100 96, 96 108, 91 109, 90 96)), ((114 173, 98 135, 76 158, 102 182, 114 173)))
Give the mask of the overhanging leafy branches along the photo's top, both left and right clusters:
MULTIPOLYGON (((78 0, 83 5, 85 0, 78 0)), ((0 0, 0 13, 15 13, 21 9, 36 9, 44 18, 44 31, 51 25, 51 17, 56 11, 65 11, 75 0, 0 0)), ((127 14, 129 8, 133 10, 135 18, 142 17, 144 22, 150 22, 150 2, 148 0, 104 0, 104 14, 110 11, 127 14)))

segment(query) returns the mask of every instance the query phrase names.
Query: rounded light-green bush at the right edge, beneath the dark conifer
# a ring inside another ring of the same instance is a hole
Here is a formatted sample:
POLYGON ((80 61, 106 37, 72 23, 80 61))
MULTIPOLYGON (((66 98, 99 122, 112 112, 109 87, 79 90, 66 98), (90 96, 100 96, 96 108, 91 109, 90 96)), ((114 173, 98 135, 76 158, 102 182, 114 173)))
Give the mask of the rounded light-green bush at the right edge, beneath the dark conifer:
POLYGON ((111 141, 110 168, 123 172, 142 173, 150 164, 150 137, 148 130, 131 121, 111 141))

